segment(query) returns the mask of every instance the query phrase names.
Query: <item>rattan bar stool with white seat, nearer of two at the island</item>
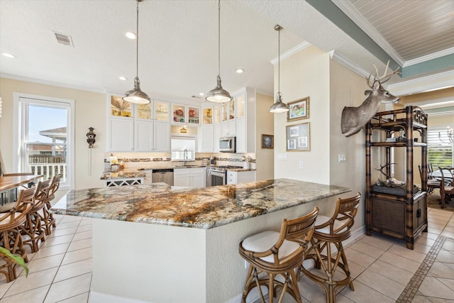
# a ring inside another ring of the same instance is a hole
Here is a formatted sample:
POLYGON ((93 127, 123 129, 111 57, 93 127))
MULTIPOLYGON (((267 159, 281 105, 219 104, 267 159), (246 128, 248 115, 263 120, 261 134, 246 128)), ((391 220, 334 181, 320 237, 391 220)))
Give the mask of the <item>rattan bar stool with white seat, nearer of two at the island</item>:
POLYGON ((277 289, 282 289, 278 302, 282 302, 285 292, 301 302, 294 270, 304 260, 318 213, 316 207, 300 218, 284 219, 280 232, 263 231, 240 242, 239 253, 249 263, 242 302, 246 301, 248 293, 255 287, 258 287, 262 302, 265 302, 261 285, 268 287, 270 303, 277 289), (261 274, 263 277, 259 277, 261 274), (284 277, 284 282, 275 279, 278 275, 284 277))

